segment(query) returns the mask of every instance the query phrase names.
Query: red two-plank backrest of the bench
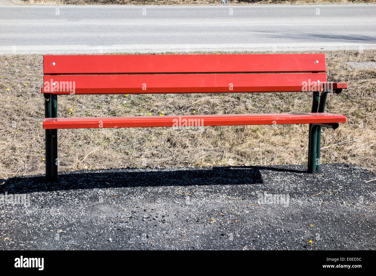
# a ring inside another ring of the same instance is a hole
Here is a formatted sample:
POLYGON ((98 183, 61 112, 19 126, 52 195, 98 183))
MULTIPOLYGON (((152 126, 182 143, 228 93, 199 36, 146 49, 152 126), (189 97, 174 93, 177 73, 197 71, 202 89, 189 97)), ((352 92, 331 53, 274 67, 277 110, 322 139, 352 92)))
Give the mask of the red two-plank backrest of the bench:
POLYGON ((325 71, 325 54, 46 55, 42 93, 303 92, 325 71))

